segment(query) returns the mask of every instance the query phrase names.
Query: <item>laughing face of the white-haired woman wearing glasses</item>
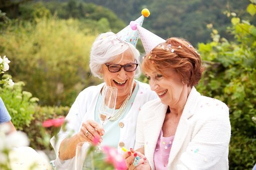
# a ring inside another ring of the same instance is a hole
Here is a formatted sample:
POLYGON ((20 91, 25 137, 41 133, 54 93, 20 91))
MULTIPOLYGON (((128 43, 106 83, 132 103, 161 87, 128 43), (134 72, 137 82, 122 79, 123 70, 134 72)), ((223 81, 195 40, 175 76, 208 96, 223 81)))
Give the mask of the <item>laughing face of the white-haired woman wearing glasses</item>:
MULTIPOLYGON (((113 60, 110 63, 107 64, 130 64, 130 63, 136 63, 132 53, 127 50, 122 55, 118 56, 115 60, 113 60)), ((102 74, 103 79, 107 86, 116 87, 117 90, 117 96, 128 96, 131 91, 131 86, 133 83, 133 79, 135 76, 135 71, 133 72, 127 72, 124 70, 124 68, 121 68, 119 72, 112 73, 108 70, 108 67, 104 64, 102 66, 102 74)))

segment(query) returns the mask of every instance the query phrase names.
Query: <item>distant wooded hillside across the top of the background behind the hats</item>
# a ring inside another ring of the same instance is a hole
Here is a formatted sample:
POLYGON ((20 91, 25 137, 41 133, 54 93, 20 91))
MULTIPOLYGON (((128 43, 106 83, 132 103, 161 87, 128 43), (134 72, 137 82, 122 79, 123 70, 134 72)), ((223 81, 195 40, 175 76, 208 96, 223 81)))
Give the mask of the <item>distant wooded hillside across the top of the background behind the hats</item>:
MULTIPOLYGON (((145 19, 144 28, 164 39, 183 37, 195 46, 198 42, 211 41, 211 31, 207 29, 207 24, 213 24, 222 37, 232 40, 233 36, 226 32, 226 28, 230 26, 227 13, 236 13, 238 17, 248 18, 252 24, 256 23, 255 17, 246 16, 242 11, 246 9, 249 0, 19 0, 27 1, 43 2, 52 14, 57 13, 60 18, 86 20, 92 25, 93 31, 111 30, 114 33, 137 19, 143 8, 148 8, 151 15, 145 19)), ((12 2, 17 9, 17 3, 12 0, 6 0, 5 4, 6 2, 12 2)), ((10 11, 9 14, 15 13, 10 11)))

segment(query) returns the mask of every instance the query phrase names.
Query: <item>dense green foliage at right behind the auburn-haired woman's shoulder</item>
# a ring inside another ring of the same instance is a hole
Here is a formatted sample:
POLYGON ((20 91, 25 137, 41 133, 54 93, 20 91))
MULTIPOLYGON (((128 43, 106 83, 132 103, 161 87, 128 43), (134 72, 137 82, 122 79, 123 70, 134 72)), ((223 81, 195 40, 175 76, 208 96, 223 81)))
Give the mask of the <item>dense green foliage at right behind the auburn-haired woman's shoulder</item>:
POLYGON ((220 38, 213 29, 213 42, 199 44, 207 71, 197 89, 228 104, 232 127, 230 168, 251 169, 256 160, 255 26, 238 17, 233 17, 231 23, 229 32, 234 41, 220 38))

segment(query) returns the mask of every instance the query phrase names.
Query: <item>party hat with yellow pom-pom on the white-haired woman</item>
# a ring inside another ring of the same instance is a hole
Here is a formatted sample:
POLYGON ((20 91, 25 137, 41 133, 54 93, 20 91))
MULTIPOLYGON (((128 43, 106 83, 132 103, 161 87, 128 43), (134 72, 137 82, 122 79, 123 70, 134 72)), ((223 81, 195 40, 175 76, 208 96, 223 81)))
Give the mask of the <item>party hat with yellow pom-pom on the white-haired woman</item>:
MULTIPOLYGON (((135 20, 134 22, 136 22, 136 24, 138 24, 139 26, 142 26, 144 18, 148 17, 150 15, 150 12, 148 9, 143 9, 141 11, 142 16, 139 17, 137 20, 135 20)), ((138 42, 138 31, 137 30, 132 30, 130 25, 128 25, 127 27, 125 27, 123 30, 121 30, 120 32, 118 32, 116 34, 116 36, 121 39, 122 41, 126 41, 128 43, 131 43, 134 47, 136 47, 137 42, 138 42)))

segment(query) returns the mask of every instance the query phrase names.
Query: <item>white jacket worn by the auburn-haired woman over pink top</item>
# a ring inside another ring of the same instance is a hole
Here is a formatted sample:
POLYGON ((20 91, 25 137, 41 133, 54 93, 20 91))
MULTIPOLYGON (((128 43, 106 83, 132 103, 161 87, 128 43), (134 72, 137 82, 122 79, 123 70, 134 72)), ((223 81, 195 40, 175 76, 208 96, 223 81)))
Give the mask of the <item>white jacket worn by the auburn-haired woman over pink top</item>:
MULTIPOLYGON (((166 109, 158 98, 144 104, 138 116, 135 149, 144 145, 152 170, 166 109)), ((228 169, 228 110, 223 102, 201 96, 193 87, 175 133, 168 169, 228 169)))

